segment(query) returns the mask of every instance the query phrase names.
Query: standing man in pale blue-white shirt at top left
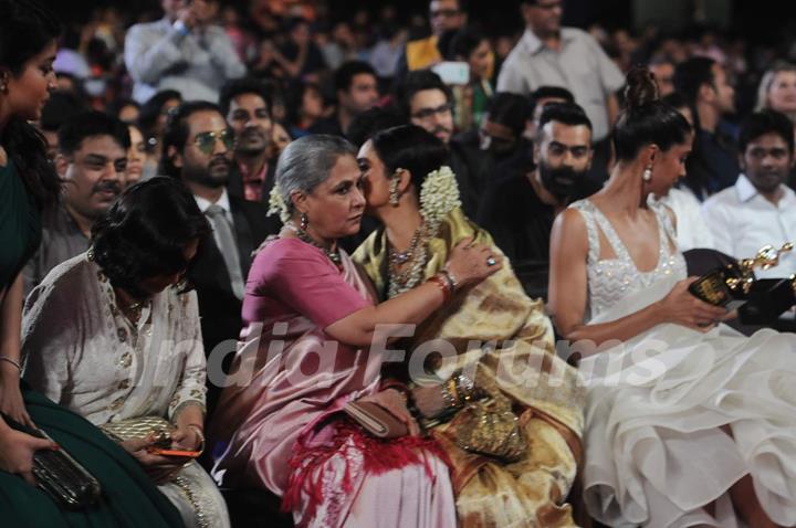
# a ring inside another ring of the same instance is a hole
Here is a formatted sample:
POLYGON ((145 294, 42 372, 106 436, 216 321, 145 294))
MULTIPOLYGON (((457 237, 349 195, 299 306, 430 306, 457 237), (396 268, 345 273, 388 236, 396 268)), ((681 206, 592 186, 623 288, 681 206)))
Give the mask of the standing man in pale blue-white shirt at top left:
POLYGON ((212 23, 218 0, 161 0, 165 17, 133 25, 125 39, 125 64, 135 81, 133 98, 176 89, 184 101, 217 102, 230 78, 245 66, 223 28, 212 23))

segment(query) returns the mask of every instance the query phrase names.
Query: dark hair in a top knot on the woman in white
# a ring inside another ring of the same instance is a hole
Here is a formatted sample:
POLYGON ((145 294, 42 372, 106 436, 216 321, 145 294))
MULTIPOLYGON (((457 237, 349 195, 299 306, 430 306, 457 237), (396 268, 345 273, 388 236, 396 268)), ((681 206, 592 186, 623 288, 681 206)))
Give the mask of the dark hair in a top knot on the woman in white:
POLYGON ((636 66, 627 75, 625 109, 614 128, 617 159, 630 161, 645 145, 669 150, 688 138, 691 126, 678 110, 658 98, 654 75, 636 66))

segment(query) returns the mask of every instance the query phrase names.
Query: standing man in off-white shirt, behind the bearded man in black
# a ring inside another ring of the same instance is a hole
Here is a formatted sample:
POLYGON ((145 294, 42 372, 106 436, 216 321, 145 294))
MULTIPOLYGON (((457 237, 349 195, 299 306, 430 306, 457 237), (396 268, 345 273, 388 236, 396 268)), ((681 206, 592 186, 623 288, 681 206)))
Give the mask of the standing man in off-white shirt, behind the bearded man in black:
POLYGON ((562 0, 523 0, 525 33, 503 63, 498 92, 528 95, 541 86, 561 86, 575 95, 594 125, 591 177, 605 180, 610 129, 618 115, 616 92, 625 84, 619 67, 588 33, 563 28, 562 0))

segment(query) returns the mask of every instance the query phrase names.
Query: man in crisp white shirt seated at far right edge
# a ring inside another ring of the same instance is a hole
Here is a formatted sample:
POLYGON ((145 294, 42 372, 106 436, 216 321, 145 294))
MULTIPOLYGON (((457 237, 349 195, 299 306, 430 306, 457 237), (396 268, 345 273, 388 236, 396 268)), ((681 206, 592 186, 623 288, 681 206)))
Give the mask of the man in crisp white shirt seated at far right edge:
MULTIPOLYGON (((796 194, 785 186, 794 167, 794 128, 783 114, 753 114, 741 128, 742 173, 733 187, 704 202, 703 211, 715 249, 737 258, 754 256, 764 245, 796 243, 796 194)), ((796 273, 796 254, 779 265, 756 271, 758 277, 796 273)))

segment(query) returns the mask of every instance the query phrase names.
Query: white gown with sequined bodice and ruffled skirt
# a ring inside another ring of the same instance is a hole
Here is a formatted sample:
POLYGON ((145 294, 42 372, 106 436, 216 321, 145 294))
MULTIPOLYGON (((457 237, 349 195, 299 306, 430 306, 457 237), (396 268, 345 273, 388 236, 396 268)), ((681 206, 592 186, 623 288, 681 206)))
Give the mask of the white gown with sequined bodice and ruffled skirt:
MULTIPOLYGON (((659 262, 642 273, 593 202, 570 207, 588 233, 589 324, 633 314, 685 277, 682 255, 669 251, 674 230, 663 208, 652 209, 659 262), (616 258, 599 260, 600 231, 616 258)), ((743 526, 727 490, 751 474, 768 516, 796 524, 794 352, 790 334, 663 324, 584 359, 589 514, 612 527, 743 526), (713 501, 715 517, 703 509, 713 501)))

